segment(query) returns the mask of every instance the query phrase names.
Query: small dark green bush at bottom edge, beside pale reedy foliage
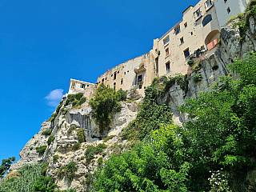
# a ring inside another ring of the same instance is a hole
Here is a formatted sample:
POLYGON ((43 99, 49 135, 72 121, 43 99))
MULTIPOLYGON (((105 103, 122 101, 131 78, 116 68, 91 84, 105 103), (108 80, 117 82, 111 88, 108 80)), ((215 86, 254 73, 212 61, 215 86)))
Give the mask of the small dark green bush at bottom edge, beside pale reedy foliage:
POLYGON ((45 178, 44 176, 41 176, 37 178, 36 182, 34 182, 32 192, 54 192, 54 187, 54 180, 52 178, 45 178))

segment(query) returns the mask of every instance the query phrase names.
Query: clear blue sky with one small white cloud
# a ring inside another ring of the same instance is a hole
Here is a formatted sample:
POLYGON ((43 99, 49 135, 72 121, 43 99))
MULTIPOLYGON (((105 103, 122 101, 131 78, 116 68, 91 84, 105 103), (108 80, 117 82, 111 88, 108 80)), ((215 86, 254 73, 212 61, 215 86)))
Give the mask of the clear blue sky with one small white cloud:
POLYGON ((70 78, 146 54, 198 0, 0 0, 0 160, 50 118, 70 78))

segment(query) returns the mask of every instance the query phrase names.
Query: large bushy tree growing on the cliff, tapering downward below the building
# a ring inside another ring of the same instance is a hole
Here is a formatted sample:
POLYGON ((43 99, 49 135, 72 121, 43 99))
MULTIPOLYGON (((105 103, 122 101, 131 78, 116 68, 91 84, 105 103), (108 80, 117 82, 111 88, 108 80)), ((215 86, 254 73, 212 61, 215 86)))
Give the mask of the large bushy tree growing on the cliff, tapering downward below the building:
POLYGON ((109 128, 112 111, 118 105, 119 98, 117 91, 102 83, 98 86, 94 98, 90 99, 89 104, 94 110, 94 118, 101 134, 109 128))

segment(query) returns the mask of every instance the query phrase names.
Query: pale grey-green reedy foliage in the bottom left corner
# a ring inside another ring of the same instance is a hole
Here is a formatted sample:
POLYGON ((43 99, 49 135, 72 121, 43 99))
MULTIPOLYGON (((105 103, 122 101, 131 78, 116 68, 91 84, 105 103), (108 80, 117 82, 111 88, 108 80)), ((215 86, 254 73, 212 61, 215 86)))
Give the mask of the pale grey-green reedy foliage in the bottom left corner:
POLYGON ((18 170, 18 177, 16 178, 2 178, 0 181, 0 191, 2 192, 31 192, 33 190, 34 182, 41 174, 41 165, 27 165, 22 166, 18 170))

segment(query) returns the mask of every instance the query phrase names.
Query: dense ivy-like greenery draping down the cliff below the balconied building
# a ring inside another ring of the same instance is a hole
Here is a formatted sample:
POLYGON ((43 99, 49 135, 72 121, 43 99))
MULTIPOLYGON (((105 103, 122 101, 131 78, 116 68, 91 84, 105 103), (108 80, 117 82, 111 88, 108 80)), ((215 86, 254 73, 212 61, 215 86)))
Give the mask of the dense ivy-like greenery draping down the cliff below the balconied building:
POLYGON ((138 112, 135 120, 122 131, 123 138, 136 142, 146 138, 150 131, 158 129, 160 124, 172 122, 170 106, 158 105, 158 86, 159 78, 154 78, 151 86, 146 87, 142 109, 138 112))

